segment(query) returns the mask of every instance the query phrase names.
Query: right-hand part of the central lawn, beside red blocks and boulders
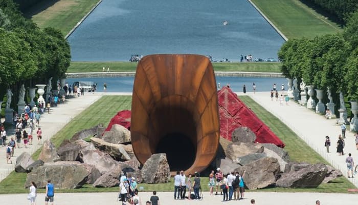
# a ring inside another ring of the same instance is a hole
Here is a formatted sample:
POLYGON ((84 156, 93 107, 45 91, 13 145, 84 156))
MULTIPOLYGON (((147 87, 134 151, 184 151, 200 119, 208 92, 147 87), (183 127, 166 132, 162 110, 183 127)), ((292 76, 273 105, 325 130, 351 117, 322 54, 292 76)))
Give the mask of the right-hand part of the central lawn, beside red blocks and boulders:
MULTIPOLYGON (((310 148, 297 134, 289 129, 281 120, 262 108, 249 96, 239 96, 239 98, 249 106, 249 108, 283 141, 286 145, 285 150, 288 152, 290 160, 304 161, 309 163, 322 162, 329 164, 321 155, 310 148)), ((339 177, 333 183, 320 185, 315 189, 262 189, 258 191, 277 191, 277 192, 347 192, 347 189, 355 189, 354 185, 345 177, 339 177)))

